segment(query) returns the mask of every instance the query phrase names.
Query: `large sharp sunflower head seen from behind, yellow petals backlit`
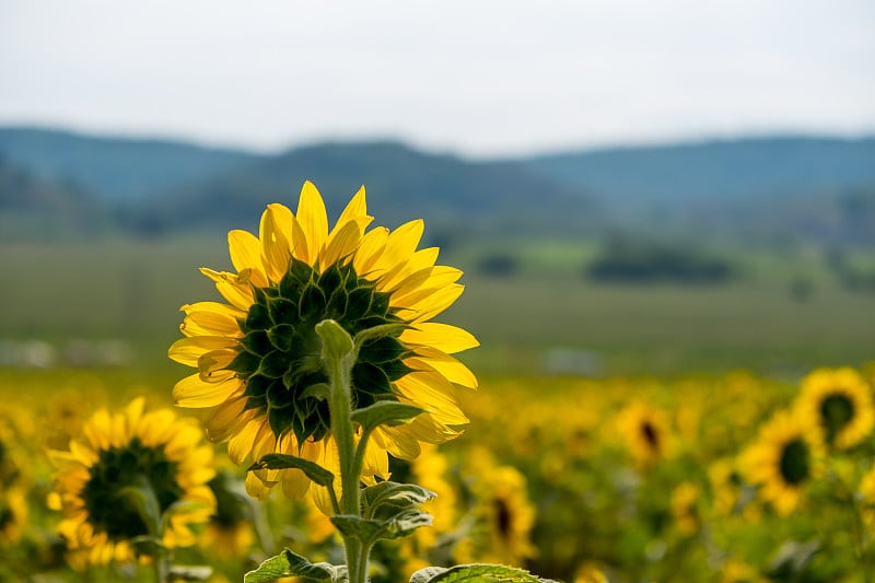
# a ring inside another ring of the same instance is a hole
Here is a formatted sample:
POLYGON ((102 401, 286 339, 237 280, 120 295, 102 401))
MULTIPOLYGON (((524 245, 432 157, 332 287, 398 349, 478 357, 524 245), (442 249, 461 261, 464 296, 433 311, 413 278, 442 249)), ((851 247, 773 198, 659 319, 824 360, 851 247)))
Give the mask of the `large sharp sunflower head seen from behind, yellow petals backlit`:
MULTIPOLYGON (((430 322, 462 294, 462 271, 435 266, 434 247, 417 250, 421 220, 365 232, 371 221, 361 188, 329 232, 322 196, 307 182, 296 214, 268 205, 258 236, 229 234, 236 273, 201 269, 228 304, 183 306, 185 338, 170 357, 198 372, 176 384, 174 401, 206 410, 207 436, 228 441, 234 463, 278 452, 338 474, 328 404, 313 388, 328 382, 314 329, 327 318, 353 336, 397 325, 361 347, 352 369, 354 408, 394 400, 425 411, 374 431, 365 479, 388 476, 387 453, 416 458, 421 442, 445 442, 467 423, 457 393, 476 388, 477 380, 451 354, 478 342, 460 328, 430 322)), ((310 489, 298 469, 253 471, 246 489, 260 499, 279 482, 290 498, 310 489)), ((328 510, 324 492, 316 495, 328 510)))

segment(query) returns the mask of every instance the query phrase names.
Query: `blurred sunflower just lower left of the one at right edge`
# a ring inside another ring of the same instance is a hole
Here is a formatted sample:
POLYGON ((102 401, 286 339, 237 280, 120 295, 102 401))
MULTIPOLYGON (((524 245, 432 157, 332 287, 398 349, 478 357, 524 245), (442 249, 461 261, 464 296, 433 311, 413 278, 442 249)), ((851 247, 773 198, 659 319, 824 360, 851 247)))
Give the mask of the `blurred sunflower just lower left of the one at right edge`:
POLYGON ((822 456, 807 420, 795 410, 784 410, 760 428, 757 441, 739 457, 738 469, 749 483, 759 486, 760 498, 785 516, 820 474, 822 456))

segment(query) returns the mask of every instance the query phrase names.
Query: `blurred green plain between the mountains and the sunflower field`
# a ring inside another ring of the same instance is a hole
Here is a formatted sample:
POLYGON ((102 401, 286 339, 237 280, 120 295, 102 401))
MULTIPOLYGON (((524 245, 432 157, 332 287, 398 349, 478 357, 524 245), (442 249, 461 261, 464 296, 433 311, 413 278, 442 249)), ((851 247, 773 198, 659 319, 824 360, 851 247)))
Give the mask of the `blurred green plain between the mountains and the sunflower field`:
MULTIPOLYGON (((474 331, 465 354, 481 373, 675 374, 750 369, 796 374, 873 359, 875 295, 841 288, 813 253, 735 252, 742 277, 726 284, 596 284, 581 277, 593 245, 508 242, 454 248, 467 289, 443 317, 474 331), (497 248, 520 258, 511 277, 477 273, 497 248), (812 293, 793 299, 797 275, 812 293), (575 361, 580 358, 582 363, 575 361)), ((223 237, 110 240, 0 247, 0 338, 116 338, 135 368, 161 370, 178 337, 179 305, 218 299, 199 266, 228 269, 223 237)))

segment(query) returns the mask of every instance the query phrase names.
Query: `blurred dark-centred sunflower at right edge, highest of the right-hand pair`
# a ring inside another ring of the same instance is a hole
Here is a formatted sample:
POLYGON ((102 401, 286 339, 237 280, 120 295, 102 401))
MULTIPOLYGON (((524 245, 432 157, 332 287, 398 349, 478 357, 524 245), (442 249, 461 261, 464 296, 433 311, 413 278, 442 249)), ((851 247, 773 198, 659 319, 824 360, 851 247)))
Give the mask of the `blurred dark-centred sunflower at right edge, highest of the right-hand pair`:
POLYGON ((820 369, 802 381, 801 413, 819 428, 827 445, 848 450, 872 433, 872 389, 853 369, 820 369))

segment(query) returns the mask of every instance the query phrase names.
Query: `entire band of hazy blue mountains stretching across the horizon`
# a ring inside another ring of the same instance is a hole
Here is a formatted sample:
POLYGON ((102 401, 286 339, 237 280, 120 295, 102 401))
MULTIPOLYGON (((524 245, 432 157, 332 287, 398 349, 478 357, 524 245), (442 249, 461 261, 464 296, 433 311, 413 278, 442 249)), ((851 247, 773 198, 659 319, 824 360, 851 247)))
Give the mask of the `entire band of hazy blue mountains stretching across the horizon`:
POLYGON ((875 241, 875 138, 772 137, 474 162, 385 141, 265 155, 13 127, 0 128, 0 158, 4 238, 35 232, 23 225, 42 229, 33 222, 39 213, 59 225, 59 236, 255 230, 267 203, 294 207, 310 179, 331 214, 364 184, 381 223, 423 217, 438 237, 626 230, 875 241))

